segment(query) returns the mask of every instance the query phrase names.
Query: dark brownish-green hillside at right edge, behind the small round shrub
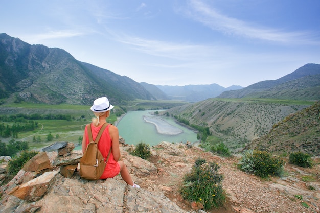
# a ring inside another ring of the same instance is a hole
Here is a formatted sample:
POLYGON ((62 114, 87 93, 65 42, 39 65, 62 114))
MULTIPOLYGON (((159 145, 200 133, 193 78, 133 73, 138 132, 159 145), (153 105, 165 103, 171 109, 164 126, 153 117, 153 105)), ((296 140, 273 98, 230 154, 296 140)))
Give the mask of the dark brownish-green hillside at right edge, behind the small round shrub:
POLYGON ((304 152, 320 156, 320 101, 273 125, 270 132, 250 143, 246 149, 275 154, 304 152))

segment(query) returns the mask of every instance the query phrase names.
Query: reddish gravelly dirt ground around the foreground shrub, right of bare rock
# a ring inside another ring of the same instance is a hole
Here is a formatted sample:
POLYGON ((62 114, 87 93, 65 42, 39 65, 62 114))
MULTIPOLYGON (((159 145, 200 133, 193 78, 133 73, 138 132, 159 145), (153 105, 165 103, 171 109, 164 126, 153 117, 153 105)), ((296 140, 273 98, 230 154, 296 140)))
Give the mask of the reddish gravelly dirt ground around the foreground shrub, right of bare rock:
MULTIPOLYGON (((239 156, 224 158, 197 147, 183 149, 188 166, 168 159, 164 161, 159 155, 148 160, 157 167, 159 174, 152 181, 163 187, 165 195, 186 211, 196 212, 190 203, 181 199, 178 190, 184 174, 190 171, 194 160, 201 157, 221 165, 219 171, 223 174, 223 188, 227 194, 224 206, 207 212, 320 212, 320 158, 312 158, 313 168, 286 163, 284 177, 266 180, 240 171, 237 168, 239 156)), ((144 182, 140 185, 147 187, 144 182)))

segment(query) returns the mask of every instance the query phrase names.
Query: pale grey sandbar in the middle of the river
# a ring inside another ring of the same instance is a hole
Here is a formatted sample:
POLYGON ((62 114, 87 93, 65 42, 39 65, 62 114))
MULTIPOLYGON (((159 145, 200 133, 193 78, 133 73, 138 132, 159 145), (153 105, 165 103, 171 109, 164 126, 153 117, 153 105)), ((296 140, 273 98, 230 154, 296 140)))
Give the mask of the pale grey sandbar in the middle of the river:
POLYGON ((161 117, 145 115, 142 117, 145 120, 145 122, 154 124, 159 134, 177 135, 184 132, 178 127, 172 126, 168 122, 164 121, 163 119, 161 119, 161 117))

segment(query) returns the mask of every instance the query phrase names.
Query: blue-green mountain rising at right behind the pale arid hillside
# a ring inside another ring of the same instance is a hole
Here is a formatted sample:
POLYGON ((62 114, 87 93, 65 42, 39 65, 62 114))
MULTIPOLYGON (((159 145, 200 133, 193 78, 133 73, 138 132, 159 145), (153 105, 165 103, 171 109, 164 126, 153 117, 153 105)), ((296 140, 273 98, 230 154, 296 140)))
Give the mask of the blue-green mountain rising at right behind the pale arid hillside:
POLYGON ((320 100, 320 64, 306 64, 277 80, 261 81, 217 98, 276 98, 320 100))

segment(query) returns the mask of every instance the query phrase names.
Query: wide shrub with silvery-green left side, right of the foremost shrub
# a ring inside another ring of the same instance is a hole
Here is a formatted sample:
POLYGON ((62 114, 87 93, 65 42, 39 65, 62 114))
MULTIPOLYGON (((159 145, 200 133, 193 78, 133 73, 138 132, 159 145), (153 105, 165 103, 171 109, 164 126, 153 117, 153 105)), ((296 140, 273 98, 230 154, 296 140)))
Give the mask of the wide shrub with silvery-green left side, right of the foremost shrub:
POLYGON ((269 153, 259 150, 244 151, 238 164, 243 171, 253 172, 262 178, 281 176, 284 172, 283 160, 272 157, 269 153))

